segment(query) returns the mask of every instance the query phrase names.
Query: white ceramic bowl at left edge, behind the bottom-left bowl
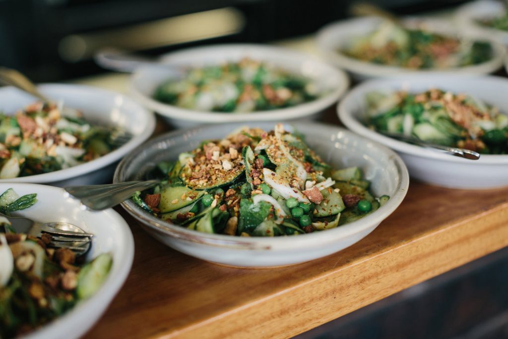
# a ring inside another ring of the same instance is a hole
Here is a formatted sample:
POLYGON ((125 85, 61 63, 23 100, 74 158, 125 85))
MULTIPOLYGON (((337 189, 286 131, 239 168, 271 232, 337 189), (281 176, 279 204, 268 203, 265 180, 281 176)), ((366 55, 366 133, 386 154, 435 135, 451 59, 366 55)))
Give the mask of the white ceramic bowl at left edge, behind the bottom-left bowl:
MULTIPOLYGON (((0 182, 51 183, 60 187, 109 182, 116 162, 148 139, 155 128, 153 113, 124 95, 83 85, 43 84, 38 88, 48 98, 62 100, 64 105, 82 111, 88 121, 119 126, 130 132, 133 138, 107 155, 78 166, 0 182)), ((15 114, 35 101, 37 99, 17 88, 0 88, 0 112, 15 114)))

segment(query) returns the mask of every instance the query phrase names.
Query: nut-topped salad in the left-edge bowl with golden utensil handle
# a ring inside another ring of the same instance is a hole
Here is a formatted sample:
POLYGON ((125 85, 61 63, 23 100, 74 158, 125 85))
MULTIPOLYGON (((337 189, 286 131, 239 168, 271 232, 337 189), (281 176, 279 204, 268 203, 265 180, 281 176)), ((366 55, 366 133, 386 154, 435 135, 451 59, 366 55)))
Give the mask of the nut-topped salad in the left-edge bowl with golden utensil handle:
POLYGON ((0 112, 0 179, 53 172, 106 155, 118 146, 118 129, 64 116, 36 102, 9 116, 0 112))

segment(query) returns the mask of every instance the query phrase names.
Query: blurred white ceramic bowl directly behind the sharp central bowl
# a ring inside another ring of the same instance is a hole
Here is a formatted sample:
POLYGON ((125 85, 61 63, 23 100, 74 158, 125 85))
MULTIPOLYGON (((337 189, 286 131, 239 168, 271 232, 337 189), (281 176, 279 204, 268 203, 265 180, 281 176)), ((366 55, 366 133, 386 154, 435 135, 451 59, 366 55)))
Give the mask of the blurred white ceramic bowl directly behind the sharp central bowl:
POLYGON ((131 93, 145 107, 168 118, 177 127, 199 124, 219 124, 239 121, 287 121, 309 117, 334 104, 349 85, 346 74, 321 60, 281 47, 234 44, 189 48, 169 53, 161 63, 182 69, 220 65, 238 61, 244 57, 267 61, 294 74, 312 79, 324 95, 308 103, 294 107, 249 113, 203 112, 184 109, 158 102, 152 98, 155 88, 171 78, 177 79, 174 69, 165 67, 143 67, 136 70, 131 78, 131 93))

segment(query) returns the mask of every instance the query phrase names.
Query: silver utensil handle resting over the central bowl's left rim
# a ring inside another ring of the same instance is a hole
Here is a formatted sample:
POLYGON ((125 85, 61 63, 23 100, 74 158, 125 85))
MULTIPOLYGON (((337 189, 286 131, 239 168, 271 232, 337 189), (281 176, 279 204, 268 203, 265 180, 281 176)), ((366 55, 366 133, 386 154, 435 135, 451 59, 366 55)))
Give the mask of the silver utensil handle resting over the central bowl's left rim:
POLYGON ((160 180, 126 181, 105 185, 74 186, 65 190, 83 205, 93 210, 113 207, 129 199, 137 191, 154 187, 160 180))

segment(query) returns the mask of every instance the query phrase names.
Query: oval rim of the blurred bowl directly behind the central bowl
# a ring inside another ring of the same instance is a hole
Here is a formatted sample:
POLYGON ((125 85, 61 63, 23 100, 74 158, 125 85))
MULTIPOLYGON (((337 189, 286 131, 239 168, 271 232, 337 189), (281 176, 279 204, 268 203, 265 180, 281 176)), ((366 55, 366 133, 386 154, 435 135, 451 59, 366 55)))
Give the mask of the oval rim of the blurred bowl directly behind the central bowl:
MULTIPOLYGON (((170 65, 176 62, 175 60, 173 60, 173 58, 191 52, 202 53, 206 55, 205 52, 207 50, 221 50, 221 49, 238 50, 245 48, 250 49, 255 48, 257 50, 263 50, 268 53, 291 54, 295 58, 301 58, 302 61, 304 60, 312 61, 313 63, 319 64, 321 67, 327 68, 328 76, 336 77, 339 85, 335 89, 332 89, 330 93, 303 104, 280 109, 253 111, 246 113, 198 111, 192 109, 185 109, 178 106, 164 104, 159 101, 156 101, 151 97, 141 93, 135 86, 136 79, 143 74, 144 70, 149 69, 149 67, 140 67, 132 74, 129 83, 129 92, 137 101, 141 102, 146 107, 156 111, 160 115, 179 120, 199 121, 201 123, 203 122, 217 123, 217 122, 250 121, 253 116, 263 121, 275 121, 288 118, 294 119, 305 116, 311 116, 316 114, 316 112, 323 110, 326 107, 334 104, 344 95, 345 91, 350 86, 350 79, 344 71, 337 69, 331 66, 330 64, 326 63, 325 61, 316 58, 312 55, 307 55, 299 51, 294 51, 288 48, 278 46, 269 46, 261 44, 220 44, 212 46, 193 47, 165 54, 161 56, 161 61, 164 64, 170 65)), ((268 57, 266 58, 266 60, 270 60, 270 58, 268 57)), ((178 64, 181 64, 181 61, 178 61, 178 64)))

